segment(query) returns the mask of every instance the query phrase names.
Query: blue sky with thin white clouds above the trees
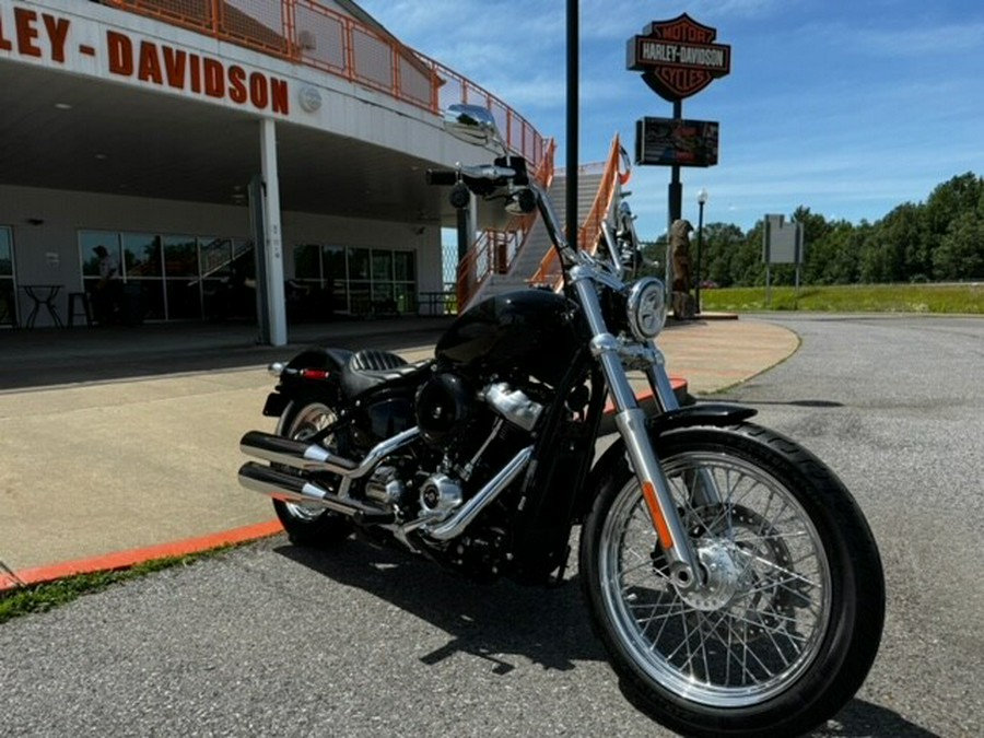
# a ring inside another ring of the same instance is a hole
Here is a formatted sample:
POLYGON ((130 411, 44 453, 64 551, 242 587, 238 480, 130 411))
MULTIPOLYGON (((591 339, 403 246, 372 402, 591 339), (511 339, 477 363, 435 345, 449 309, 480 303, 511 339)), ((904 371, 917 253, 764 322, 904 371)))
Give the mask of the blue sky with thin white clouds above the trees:
MULTIPOLYGON (((362 0, 405 44, 490 90, 557 138, 563 166, 564 0, 362 0)), ((749 229, 799 206, 854 223, 984 175, 980 0, 581 0, 581 161, 672 106, 625 69, 625 43, 682 12, 731 46, 731 73, 683 101, 721 121, 715 167, 682 169, 683 216, 749 229)), ((670 169, 636 167, 643 238, 666 227, 670 169)))

